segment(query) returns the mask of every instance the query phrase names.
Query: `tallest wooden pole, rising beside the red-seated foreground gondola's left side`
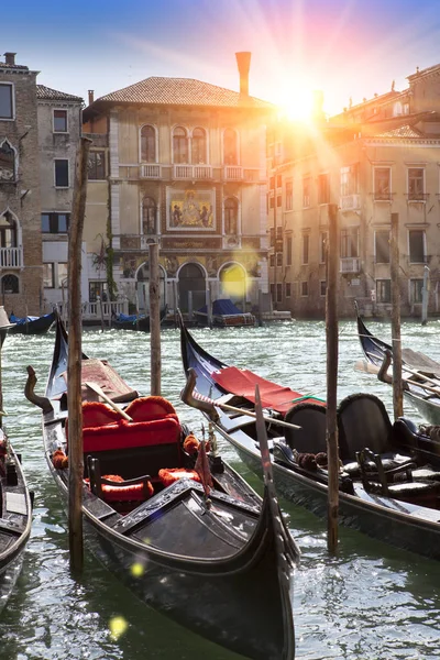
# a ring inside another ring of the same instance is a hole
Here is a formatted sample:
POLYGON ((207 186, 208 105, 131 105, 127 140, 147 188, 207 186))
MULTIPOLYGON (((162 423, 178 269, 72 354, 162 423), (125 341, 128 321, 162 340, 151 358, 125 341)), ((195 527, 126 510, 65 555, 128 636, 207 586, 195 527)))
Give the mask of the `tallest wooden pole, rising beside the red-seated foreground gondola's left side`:
POLYGON ((82 552, 82 407, 81 407, 81 241, 86 212, 87 164, 90 140, 80 139, 76 164, 69 229, 67 286, 69 339, 67 408, 69 420, 69 549, 70 570, 80 573, 82 552))

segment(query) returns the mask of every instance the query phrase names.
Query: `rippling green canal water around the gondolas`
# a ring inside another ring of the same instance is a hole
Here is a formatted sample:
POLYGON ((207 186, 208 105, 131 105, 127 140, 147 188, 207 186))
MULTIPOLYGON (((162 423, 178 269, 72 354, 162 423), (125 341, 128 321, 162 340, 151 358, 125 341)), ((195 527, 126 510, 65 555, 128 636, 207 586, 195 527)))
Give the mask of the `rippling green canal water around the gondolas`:
MULTIPOLYGON (((389 326, 370 322, 389 340, 389 326)), ((262 328, 194 330, 209 352, 293 388, 326 395, 324 323, 293 321, 262 328)), ((440 360, 440 321, 403 323, 404 345, 440 360)), ((239 657, 188 632, 139 603, 92 557, 75 582, 68 569, 66 517, 42 451, 40 414, 23 395, 32 364, 44 388, 54 333, 9 337, 2 351, 4 422, 22 453, 35 493, 34 521, 22 573, 0 616, 0 660, 233 660, 239 657), (118 625, 117 625, 118 624, 118 625)), ((84 351, 106 358, 140 392, 148 392, 150 336, 86 330, 84 351)), ((200 429, 201 416, 178 400, 184 385, 177 330, 163 332, 163 394, 185 421, 200 429)), ((392 391, 354 371, 361 360, 355 323, 340 323, 338 399, 370 392, 392 409, 392 391)), ((38 389, 40 387, 40 389, 38 389)), ((420 420, 409 407, 406 415, 420 420)), ((421 421, 421 420, 420 420, 421 421)), ((223 457, 252 485, 234 451, 219 439, 223 457)), ((302 557, 295 570, 293 605, 297 658, 304 660, 433 660, 440 657, 440 565, 344 528, 340 550, 327 553, 326 522, 282 501, 302 557)), ((194 593, 197 601, 198 594, 194 593)), ((228 607, 223 603, 223 607, 228 607)), ((199 603, 200 608, 205 606, 199 603)), ((265 607, 264 593, 261 606, 265 607)))

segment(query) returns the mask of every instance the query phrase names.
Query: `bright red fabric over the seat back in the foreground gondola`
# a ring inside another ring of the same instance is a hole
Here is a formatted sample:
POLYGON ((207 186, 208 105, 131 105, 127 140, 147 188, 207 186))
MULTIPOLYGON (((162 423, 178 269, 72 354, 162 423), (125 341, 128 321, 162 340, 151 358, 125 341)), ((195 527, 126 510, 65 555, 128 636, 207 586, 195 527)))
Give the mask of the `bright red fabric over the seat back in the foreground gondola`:
POLYGON ((127 421, 82 429, 84 453, 174 444, 180 441, 180 425, 173 417, 153 421, 127 421))

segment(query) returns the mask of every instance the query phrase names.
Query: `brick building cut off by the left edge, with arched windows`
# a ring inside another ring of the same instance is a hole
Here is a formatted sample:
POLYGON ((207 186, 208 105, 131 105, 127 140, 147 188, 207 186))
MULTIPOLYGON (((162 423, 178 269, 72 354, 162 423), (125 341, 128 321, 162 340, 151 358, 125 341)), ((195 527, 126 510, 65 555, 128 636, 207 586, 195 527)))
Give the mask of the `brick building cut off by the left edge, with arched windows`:
POLYGON ((36 76, 0 62, 0 294, 8 314, 38 315, 43 267, 36 76))

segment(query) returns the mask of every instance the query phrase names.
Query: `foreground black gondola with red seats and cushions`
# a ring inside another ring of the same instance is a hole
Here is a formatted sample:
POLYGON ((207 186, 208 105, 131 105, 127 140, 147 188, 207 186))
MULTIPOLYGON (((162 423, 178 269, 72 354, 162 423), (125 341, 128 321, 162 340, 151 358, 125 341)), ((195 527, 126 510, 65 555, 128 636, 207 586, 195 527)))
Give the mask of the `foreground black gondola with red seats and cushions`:
MULTIPOLYGON (((32 367, 26 384, 43 410, 45 454, 64 503, 67 350, 58 319, 45 396, 34 392, 32 367)), ((289 585, 298 551, 270 474, 262 499, 222 461, 213 438, 204 460, 204 440, 169 402, 139 396, 106 361, 84 355, 81 374, 88 547, 144 603, 197 634, 248 658, 294 659, 289 585)))

